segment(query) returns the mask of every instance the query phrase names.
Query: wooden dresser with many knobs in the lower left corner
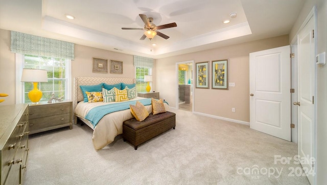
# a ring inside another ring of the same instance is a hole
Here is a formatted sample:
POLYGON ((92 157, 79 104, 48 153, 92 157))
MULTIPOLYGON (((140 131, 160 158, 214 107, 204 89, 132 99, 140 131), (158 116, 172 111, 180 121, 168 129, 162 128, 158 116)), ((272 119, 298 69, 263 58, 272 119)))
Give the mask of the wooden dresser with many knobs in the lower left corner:
POLYGON ((0 105, 1 185, 22 184, 29 136, 28 104, 0 105))

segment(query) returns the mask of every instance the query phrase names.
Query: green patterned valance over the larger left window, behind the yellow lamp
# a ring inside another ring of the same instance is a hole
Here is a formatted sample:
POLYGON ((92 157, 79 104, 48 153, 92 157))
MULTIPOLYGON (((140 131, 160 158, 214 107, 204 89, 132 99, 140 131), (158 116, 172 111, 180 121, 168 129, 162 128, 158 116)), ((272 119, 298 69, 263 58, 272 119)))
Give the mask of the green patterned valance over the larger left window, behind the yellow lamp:
POLYGON ((11 52, 74 60, 74 43, 11 31, 11 52))

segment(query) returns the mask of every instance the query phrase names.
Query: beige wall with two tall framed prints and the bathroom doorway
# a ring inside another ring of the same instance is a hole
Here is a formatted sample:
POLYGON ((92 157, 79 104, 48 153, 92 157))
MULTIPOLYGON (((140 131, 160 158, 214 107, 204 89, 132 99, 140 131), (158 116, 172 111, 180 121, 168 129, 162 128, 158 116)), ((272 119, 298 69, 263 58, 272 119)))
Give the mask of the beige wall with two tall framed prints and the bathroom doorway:
MULTIPOLYGON (((195 63, 228 59, 229 82, 235 87, 228 90, 199 89, 194 91, 194 111, 243 122, 250 121, 249 115, 249 53, 288 45, 288 35, 246 42, 191 54, 173 56, 156 60, 156 86, 160 98, 176 107, 177 76, 176 62, 194 60, 195 63), (236 112, 231 112, 231 108, 236 112)), ((194 71, 195 71, 194 65, 194 71)), ((210 69, 211 67, 209 67, 210 69)), ((211 71, 209 73, 209 76, 211 71)), ((193 79, 195 81, 195 79, 193 79)), ((211 79, 209 80, 209 84, 211 79)), ((211 87, 211 84, 209 85, 211 87)))

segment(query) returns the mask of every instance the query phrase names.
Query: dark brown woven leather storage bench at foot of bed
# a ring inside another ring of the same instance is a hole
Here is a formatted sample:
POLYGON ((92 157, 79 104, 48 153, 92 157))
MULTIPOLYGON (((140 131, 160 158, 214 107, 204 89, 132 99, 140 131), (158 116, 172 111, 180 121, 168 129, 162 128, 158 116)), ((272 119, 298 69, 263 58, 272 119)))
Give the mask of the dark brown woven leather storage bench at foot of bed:
POLYGON ((149 117, 142 122, 137 121, 135 118, 124 121, 124 142, 128 141, 134 145, 134 149, 137 150, 139 144, 142 144, 171 128, 175 129, 175 116, 175 113, 167 111, 155 115, 151 113, 149 117))

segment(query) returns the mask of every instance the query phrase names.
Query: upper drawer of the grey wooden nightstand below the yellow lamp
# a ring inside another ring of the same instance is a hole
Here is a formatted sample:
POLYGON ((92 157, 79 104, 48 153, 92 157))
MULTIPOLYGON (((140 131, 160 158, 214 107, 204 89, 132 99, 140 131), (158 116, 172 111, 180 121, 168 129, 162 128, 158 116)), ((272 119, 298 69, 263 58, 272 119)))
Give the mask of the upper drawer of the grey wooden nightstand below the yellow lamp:
POLYGON ((71 103, 56 103, 42 106, 30 106, 30 120, 71 112, 71 103))

